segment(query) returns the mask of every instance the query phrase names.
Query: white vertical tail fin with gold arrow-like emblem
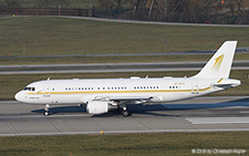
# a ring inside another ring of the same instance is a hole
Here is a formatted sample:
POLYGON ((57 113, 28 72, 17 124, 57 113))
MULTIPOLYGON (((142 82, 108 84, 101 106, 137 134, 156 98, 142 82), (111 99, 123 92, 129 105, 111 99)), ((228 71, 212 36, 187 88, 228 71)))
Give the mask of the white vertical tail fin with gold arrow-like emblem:
POLYGON ((226 41, 212 55, 203 70, 194 77, 228 79, 236 51, 237 41, 226 41))

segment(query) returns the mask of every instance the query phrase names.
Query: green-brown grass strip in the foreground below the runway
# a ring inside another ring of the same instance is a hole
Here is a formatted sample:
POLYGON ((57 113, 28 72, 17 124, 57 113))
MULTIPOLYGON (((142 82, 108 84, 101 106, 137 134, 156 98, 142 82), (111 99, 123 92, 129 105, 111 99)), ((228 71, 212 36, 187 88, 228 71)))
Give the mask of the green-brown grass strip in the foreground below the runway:
MULTIPOLYGON (((0 155, 193 155, 193 149, 246 149, 249 132, 0 137, 0 155)), ((236 154, 230 154, 236 155, 236 154)))

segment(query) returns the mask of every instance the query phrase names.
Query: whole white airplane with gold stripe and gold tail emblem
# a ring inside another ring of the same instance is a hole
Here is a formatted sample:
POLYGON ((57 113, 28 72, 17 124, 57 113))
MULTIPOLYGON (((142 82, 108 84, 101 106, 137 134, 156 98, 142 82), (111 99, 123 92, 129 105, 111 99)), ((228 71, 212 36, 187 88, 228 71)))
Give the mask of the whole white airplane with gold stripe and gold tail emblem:
POLYGON ((203 70, 191 77, 131 77, 45 80, 33 82, 15 94, 22 103, 50 105, 86 104, 89 114, 117 108, 124 116, 127 104, 153 104, 197 97, 240 85, 229 79, 237 41, 226 41, 203 70))

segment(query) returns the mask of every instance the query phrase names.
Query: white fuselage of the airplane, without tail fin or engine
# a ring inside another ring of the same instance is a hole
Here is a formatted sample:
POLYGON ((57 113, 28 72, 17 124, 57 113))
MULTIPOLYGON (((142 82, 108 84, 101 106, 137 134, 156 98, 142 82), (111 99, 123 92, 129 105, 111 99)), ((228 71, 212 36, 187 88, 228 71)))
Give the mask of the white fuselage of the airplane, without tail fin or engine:
MULTIPOLYGON (((34 91, 20 91, 15 98, 33 104, 82 104, 110 97, 151 96, 146 103, 164 103, 201 96, 224 90, 212 84, 218 79, 95 79, 48 80, 29 84, 34 91)), ((224 82, 226 80, 222 80, 224 82)), ((229 80, 239 85, 237 80, 229 80)))

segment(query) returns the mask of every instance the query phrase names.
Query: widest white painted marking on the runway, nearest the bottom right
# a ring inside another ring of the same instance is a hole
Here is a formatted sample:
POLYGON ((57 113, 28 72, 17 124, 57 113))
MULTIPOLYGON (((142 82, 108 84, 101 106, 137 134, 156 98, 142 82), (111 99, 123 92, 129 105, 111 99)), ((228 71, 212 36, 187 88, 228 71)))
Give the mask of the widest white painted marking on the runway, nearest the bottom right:
POLYGON ((249 124, 249 117, 191 117, 193 124, 249 124))

